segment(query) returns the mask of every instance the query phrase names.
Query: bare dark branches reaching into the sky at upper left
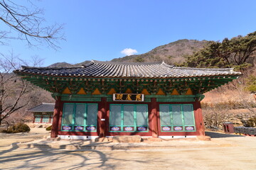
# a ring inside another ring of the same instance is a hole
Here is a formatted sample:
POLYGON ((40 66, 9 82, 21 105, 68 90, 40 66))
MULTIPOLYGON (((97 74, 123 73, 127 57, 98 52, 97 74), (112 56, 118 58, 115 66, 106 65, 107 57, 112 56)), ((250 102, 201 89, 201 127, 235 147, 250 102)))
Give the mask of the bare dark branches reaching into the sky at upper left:
POLYGON ((29 46, 47 44, 58 49, 58 40, 63 38, 63 25, 45 26, 43 10, 31 1, 23 1, 25 5, 11 0, 0 0, 0 43, 7 44, 8 39, 26 40, 29 46))

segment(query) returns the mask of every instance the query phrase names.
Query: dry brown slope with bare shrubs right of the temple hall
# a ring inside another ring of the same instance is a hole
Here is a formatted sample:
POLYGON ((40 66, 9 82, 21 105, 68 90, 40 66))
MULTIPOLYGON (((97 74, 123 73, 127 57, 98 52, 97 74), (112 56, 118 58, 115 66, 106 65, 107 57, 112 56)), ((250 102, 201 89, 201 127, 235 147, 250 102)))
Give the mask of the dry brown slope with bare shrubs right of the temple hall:
POLYGON ((211 92, 223 94, 223 96, 211 96, 214 98, 213 101, 218 102, 202 104, 204 120, 209 128, 220 128, 225 121, 246 125, 249 120, 256 118, 255 94, 252 93, 254 91, 248 89, 249 85, 255 85, 252 82, 255 81, 254 75, 256 75, 255 69, 247 70, 247 72, 243 72, 240 79, 211 92))

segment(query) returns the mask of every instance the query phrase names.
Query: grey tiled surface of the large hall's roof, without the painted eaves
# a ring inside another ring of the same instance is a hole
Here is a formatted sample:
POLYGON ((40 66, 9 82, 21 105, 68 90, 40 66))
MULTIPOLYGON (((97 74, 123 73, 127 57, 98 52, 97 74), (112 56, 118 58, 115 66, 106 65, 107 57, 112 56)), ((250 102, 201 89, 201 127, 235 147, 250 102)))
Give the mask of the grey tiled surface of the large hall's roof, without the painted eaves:
POLYGON ((82 67, 22 67, 16 74, 36 74, 50 77, 113 77, 113 78, 175 78, 239 75, 233 69, 198 69, 175 67, 164 62, 119 63, 92 61, 82 67))

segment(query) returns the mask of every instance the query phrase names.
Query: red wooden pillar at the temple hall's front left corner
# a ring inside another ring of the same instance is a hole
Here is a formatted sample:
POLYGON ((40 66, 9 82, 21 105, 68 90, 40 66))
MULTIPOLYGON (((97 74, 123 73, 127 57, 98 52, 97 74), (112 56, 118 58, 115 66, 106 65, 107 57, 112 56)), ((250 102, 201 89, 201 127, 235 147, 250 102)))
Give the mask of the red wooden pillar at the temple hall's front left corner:
POLYGON ((61 100, 60 100, 60 96, 57 96, 57 100, 55 101, 55 108, 53 111, 53 125, 52 125, 52 130, 50 132, 50 137, 52 138, 58 136, 58 124, 60 119, 60 111, 61 111, 61 100))

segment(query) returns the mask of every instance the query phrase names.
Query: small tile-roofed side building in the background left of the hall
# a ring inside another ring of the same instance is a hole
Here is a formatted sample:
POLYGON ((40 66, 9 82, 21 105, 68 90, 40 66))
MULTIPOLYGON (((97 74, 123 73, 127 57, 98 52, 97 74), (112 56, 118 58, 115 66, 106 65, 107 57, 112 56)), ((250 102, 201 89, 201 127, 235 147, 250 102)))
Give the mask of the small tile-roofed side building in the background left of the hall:
POLYGON ((30 108, 28 111, 33 113, 33 123, 51 124, 53 123, 53 111, 55 103, 41 103, 30 108))

